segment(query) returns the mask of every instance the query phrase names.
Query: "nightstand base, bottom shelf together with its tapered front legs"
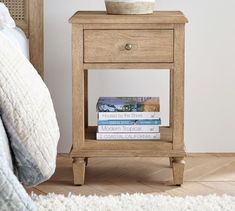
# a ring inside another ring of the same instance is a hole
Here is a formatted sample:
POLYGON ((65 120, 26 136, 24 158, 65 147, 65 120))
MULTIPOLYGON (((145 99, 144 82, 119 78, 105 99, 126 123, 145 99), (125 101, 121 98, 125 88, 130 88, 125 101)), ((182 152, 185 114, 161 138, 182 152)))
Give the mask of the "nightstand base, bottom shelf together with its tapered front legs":
POLYGON ((86 129, 85 141, 78 149, 73 148, 74 184, 83 185, 88 158, 92 157, 169 157, 173 170, 174 184, 183 182, 185 151, 174 150, 172 130, 161 127, 160 140, 96 140, 96 127, 86 129))

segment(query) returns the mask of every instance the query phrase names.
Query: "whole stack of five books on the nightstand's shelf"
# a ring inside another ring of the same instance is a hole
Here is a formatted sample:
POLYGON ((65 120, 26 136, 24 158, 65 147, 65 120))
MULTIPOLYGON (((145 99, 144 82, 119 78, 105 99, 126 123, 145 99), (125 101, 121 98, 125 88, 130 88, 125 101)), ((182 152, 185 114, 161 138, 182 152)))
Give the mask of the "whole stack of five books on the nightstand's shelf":
POLYGON ((160 139, 159 97, 100 97, 97 140, 160 139))

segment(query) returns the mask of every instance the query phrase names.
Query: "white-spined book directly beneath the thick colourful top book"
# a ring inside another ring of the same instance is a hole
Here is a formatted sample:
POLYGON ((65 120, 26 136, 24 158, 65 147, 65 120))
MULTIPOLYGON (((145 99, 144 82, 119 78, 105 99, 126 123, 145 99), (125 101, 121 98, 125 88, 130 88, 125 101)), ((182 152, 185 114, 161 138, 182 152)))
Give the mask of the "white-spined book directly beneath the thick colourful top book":
POLYGON ((99 120, 141 120, 159 119, 160 112, 98 112, 99 120))

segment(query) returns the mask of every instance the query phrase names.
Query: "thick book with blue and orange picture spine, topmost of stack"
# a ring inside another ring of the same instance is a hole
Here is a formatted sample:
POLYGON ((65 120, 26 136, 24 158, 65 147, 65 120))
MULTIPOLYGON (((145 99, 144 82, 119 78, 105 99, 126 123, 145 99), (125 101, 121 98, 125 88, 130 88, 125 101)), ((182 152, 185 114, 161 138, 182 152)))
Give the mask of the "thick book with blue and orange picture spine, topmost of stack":
POLYGON ((159 112, 159 97, 100 97, 97 112, 159 112))

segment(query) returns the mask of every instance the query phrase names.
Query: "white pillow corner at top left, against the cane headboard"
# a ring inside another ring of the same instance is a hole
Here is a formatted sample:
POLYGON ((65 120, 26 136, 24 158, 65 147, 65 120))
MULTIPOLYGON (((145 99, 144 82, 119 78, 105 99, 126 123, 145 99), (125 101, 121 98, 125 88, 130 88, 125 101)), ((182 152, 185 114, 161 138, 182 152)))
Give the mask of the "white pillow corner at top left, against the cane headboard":
POLYGON ((5 4, 0 3, 0 30, 16 27, 15 21, 11 17, 5 4))

